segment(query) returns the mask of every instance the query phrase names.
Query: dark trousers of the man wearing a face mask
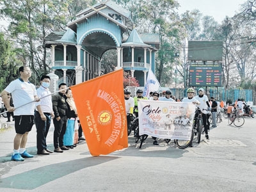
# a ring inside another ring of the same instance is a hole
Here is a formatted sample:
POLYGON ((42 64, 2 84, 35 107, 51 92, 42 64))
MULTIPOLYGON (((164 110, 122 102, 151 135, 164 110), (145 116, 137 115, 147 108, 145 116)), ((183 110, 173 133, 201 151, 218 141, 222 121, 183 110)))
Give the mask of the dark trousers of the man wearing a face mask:
POLYGON ((46 116, 46 121, 43 121, 40 113, 35 111, 34 120, 36 125, 36 148, 38 152, 42 152, 42 150, 47 148, 46 137, 51 126, 51 114, 44 113, 44 115, 46 116))

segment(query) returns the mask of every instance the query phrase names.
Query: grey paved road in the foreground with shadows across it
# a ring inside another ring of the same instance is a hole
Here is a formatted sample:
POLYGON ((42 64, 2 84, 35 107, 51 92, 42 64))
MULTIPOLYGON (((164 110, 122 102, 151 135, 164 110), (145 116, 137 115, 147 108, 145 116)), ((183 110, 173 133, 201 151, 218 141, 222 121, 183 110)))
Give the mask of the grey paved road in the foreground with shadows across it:
MULTIPOLYGON (((1 122, 6 119, 1 118, 1 122)), ((256 191, 256 118, 243 127, 227 120, 209 132, 210 140, 181 150, 148 138, 108 156, 92 157, 86 141, 63 154, 36 155, 36 130, 27 150, 35 157, 10 161, 14 128, 0 131, 0 191, 256 191)), ((53 127, 47 138, 52 145, 53 127)), ((205 139, 203 137, 203 139, 205 139)), ((162 141, 162 142, 161 142, 162 141)))

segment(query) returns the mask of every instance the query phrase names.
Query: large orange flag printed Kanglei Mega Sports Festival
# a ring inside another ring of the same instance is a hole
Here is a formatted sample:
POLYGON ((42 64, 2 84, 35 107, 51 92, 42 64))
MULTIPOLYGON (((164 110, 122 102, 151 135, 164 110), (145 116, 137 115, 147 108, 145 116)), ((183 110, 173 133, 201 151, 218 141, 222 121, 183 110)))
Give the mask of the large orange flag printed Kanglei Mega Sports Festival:
POLYGON ((128 147, 123 78, 121 69, 70 87, 92 156, 128 147))

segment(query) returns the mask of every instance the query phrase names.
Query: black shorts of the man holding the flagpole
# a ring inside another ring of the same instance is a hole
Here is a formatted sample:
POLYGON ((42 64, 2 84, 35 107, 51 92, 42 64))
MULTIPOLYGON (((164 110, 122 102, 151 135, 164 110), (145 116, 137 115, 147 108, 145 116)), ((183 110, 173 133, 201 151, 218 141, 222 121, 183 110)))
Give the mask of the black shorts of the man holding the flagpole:
POLYGON ((15 131, 19 134, 31 131, 34 124, 34 115, 18 115, 14 116, 15 131))

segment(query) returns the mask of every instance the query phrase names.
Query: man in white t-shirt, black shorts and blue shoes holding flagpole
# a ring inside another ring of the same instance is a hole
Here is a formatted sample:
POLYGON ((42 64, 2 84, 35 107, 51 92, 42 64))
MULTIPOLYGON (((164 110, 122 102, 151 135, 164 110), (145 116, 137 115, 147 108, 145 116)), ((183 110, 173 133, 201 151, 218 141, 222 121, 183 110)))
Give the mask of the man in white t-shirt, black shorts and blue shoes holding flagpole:
POLYGON ((29 82, 31 77, 29 67, 20 67, 20 78, 12 81, 1 93, 7 111, 14 113, 16 135, 13 141, 13 161, 24 161, 24 158, 33 157, 26 152, 28 133, 31 131, 34 119, 35 101, 40 99, 36 95, 35 85, 29 82), (13 105, 10 106, 10 93, 13 105))

